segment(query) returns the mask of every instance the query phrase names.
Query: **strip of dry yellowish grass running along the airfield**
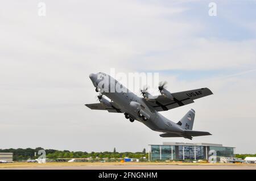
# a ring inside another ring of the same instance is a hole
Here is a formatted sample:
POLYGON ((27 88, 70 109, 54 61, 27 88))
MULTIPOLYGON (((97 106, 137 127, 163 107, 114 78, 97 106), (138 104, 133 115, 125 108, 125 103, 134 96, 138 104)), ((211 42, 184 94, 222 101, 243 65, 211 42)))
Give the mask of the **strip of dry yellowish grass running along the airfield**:
POLYGON ((256 164, 244 163, 183 163, 183 162, 48 162, 48 163, 1 163, 0 169, 17 168, 17 167, 72 167, 72 166, 143 166, 143 165, 187 165, 187 166, 255 166, 256 164))

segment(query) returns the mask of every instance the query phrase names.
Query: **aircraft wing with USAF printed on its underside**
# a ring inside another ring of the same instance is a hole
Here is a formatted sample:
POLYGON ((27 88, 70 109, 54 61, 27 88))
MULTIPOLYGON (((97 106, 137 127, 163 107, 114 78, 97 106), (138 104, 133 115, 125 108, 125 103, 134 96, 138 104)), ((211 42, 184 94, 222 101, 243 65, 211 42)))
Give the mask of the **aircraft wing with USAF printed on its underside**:
POLYGON ((156 111, 167 111, 176 107, 184 106, 193 103, 195 99, 203 98, 213 94, 208 88, 194 89, 182 92, 172 93, 174 100, 167 98, 164 95, 159 95, 155 99, 144 99, 144 102, 154 107, 156 111))

